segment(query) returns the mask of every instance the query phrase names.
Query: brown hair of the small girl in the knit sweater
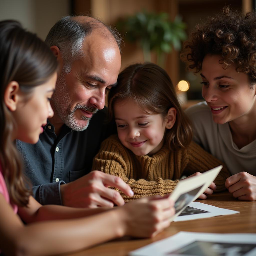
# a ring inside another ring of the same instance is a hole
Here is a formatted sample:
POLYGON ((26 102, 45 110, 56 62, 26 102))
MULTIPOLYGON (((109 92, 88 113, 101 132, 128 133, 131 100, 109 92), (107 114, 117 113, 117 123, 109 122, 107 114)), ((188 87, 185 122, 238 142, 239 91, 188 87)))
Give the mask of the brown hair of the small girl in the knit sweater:
POLYGON ((168 110, 177 110, 176 122, 166 130, 165 141, 170 150, 188 146, 192 140, 189 119, 182 110, 173 83, 164 69, 153 63, 134 64, 124 69, 118 77, 118 85, 109 92, 109 120, 114 118, 114 103, 132 99, 148 114, 167 117, 168 110))

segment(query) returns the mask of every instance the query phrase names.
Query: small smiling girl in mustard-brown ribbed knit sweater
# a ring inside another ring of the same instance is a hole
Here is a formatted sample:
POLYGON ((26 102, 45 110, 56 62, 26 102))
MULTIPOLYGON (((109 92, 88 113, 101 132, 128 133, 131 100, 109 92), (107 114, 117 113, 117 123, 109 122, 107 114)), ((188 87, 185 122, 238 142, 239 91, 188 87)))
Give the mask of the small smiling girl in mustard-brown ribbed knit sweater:
MULTIPOLYGON (((134 191, 133 198, 172 193, 183 176, 197 175, 222 164, 191 142, 191 124, 184 114, 168 74, 153 63, 123 70, 118 86, 109 93, 109 119, 118 136, 105 140, 93 169, 121 177, 134 191)), ((230 174, 224 167, 200 196, 225 189, 230 174), (216 187, 217 186, 217 187, 216 187)))

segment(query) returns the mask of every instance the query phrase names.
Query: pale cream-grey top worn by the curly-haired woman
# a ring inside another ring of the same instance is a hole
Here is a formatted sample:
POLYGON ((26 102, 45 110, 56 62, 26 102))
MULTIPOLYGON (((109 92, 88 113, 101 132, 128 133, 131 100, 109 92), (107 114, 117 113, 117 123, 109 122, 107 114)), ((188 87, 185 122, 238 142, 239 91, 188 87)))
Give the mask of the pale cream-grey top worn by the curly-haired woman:
POLYGON ((191 106, 186 113, 194 124, 196 143, 225 162, 232 175, 248 172, 256 176, 256 140, 239 149, 233 142, 229 123, 216 124, 205 101, 191 106))

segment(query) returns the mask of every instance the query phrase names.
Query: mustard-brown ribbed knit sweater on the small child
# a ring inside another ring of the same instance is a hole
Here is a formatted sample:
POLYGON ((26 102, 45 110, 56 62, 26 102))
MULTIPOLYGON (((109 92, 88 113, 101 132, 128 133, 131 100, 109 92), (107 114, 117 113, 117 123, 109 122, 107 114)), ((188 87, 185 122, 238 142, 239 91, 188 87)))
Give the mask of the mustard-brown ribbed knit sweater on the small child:
MULTIPOLYGON (((127 202, 144 196, 172 193, 183 175, 202 173, 221 164, 194 142, 176 152, 164 145, 152 157, 136 156, 121 144, 117 135, 112 135, 103 141, 92 169, 119 176, 129 184, 134 192, 132 198, 119 191, 127 202)), ((225 188, 228 177, 230 173, 224 167, 214 181, 218 190, 225 188)))

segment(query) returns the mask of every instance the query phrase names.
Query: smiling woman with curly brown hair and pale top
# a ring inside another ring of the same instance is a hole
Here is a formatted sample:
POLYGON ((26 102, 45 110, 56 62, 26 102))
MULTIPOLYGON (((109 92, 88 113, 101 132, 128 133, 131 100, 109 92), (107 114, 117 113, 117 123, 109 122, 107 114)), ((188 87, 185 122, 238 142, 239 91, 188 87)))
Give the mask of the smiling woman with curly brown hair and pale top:
POLYGON ((240 200, 256 200, 256 16, 224 7, 197 26, 181 58, 200 72, 205 102, 187 114, 194 140, 225 162, 226 188, 240 200))

